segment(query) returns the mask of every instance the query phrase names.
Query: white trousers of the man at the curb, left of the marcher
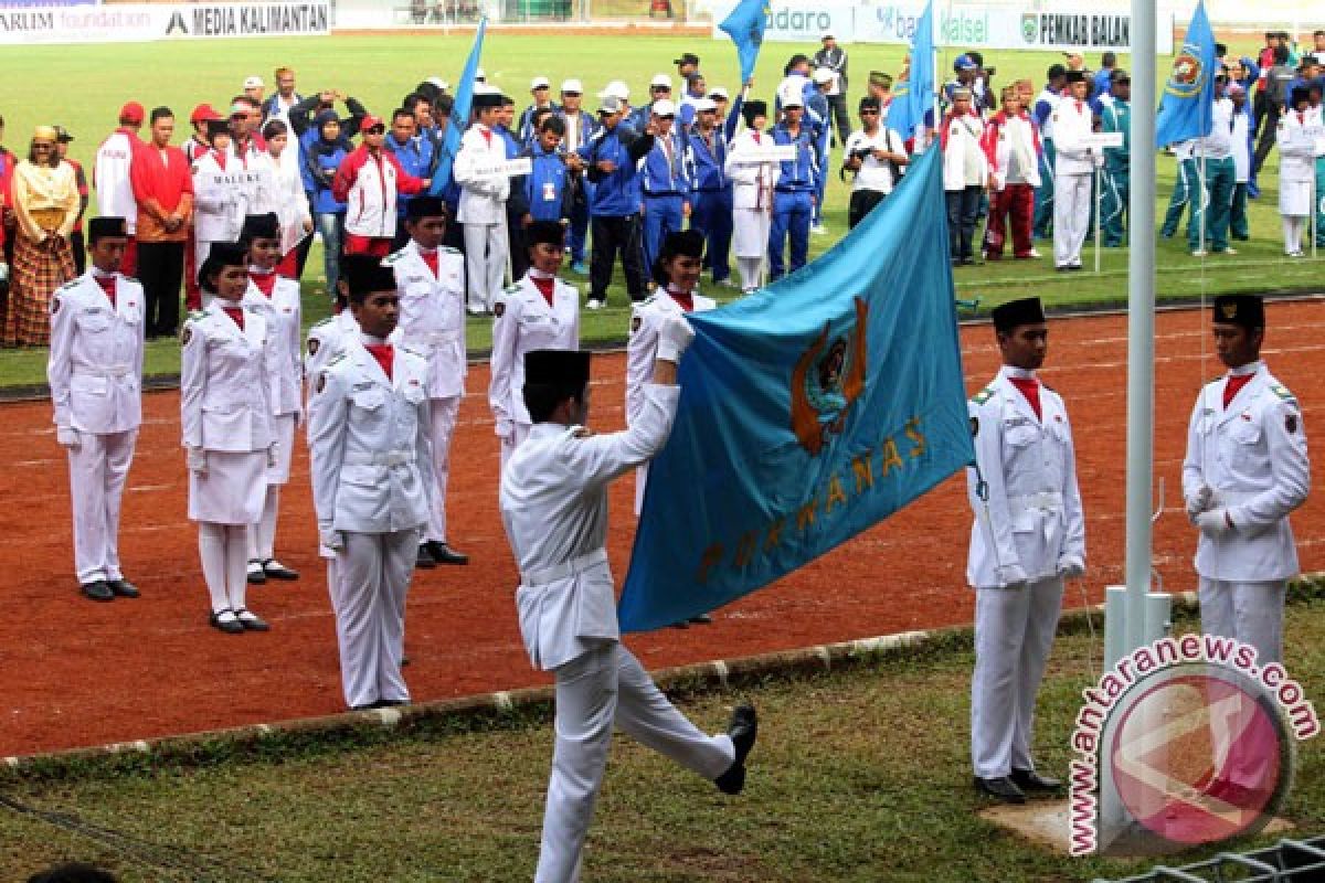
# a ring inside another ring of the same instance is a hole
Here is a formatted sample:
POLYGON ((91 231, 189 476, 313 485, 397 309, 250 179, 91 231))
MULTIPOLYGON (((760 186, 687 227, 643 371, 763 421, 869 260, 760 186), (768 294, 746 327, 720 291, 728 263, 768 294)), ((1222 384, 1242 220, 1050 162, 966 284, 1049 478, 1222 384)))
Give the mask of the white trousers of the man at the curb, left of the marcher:
POLYGON ((327 568, 341 646, 341 683, 351 708, 379 699, 409 699, 404 654, 405 593, 419 556, 419 531, 344 532, 327 568))

